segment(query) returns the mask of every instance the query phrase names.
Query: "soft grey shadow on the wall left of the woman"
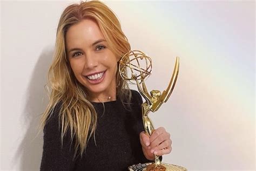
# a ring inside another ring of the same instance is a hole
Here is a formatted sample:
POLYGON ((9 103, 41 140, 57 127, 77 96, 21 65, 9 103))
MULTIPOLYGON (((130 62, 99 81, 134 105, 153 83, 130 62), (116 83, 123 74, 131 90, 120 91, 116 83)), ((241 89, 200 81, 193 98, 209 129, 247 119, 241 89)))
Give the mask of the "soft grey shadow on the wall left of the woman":
POLYGON ((19 145, 13 163, 19 163, 19 170, 39 170, 43 153, 43 131, 38 136, 39 120, 48 104, 44 85, 53 57, 54 46, 45 47, 33 69, 28 90, 25 93, 25 107, 22 125, 27 128, 19 145))

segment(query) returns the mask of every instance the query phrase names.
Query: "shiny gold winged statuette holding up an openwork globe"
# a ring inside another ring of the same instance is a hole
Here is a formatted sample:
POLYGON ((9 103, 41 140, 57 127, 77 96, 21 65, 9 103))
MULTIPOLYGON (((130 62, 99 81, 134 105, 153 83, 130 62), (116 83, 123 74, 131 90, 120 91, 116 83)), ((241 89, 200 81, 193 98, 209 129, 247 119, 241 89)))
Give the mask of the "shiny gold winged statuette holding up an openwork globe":
MULTIPOLYGON (((150 111, 156 112, 159 107, 166 102, 175 86, 179 72, 179 57, 176 57, 176 63, 172 78, 166 90, 161 93, 159 90, 147 91, 145 80, 150 76, 152 71, 151 58, 145 53, 133 50, 127 52, 119 61, 119 73, 121 77, 129 81, 131 84, 136 84, 140 94, 145 98, 142 104, 142 118, 145 132, 152 135, 154 126, 151 119, 148 117, 150 111)), ((159 156, 154 155, 154 162, 132 165, 128 170, 187 170, 184 167, 161 163, 159 156)))

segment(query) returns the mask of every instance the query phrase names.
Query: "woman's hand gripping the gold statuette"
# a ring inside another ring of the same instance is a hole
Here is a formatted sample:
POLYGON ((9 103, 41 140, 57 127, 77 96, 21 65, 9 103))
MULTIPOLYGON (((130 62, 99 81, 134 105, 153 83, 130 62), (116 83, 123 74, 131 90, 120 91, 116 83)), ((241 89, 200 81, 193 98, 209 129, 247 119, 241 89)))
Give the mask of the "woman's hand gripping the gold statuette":
POLYGON ((142 151, 148 160, 154 160, 154 154, 161 156, 172 151, 170 134, 163 127, 154 130, 151 136, 143 131, 139 134, 139 139, 142 151))

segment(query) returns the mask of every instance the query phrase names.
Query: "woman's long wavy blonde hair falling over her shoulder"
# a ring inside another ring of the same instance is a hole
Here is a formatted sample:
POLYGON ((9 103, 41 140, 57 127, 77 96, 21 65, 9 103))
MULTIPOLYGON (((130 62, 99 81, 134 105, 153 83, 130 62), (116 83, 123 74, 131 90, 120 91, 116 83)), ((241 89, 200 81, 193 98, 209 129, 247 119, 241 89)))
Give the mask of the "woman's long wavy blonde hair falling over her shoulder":
MULTIPOLYGON (((80 2, 69 5, 62 13, 56 35, 55 52, 48 73, 48 83, 45 85, 51 89, 49 104, 44 111, 40 130, 45 127, 57 104, 61 104, 58 113, 59 126, 63 137, 68 130, 71 139, 75 138, 75 156, 77 152, 82 157, 88 140, 95 135, 97 125, 97 113, 93 105, 88 101, 86 88, 78 82, 70 67, 65 50, 65 34, 68 29, 83 19, 94 20, 102 31, 110 50, 120 59, 130 50, 130 44, 124 35, 118 18, 104 3, 99 1, 80 2)), ((131 100, 131 91, 127 83, 120 77, 117 71, 117 96, 124 106, 128 106, 131 100)))

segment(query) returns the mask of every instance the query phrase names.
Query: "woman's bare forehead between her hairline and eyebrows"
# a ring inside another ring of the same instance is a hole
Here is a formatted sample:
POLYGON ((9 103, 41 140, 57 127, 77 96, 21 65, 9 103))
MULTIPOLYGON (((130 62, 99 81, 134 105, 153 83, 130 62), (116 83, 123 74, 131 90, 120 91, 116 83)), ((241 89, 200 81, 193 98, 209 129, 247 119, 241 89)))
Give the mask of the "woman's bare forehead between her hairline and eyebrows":
POLYGON ((68 29, 65 35, 65 44, 70 49, 72 47, 91 45, 98 39, 104 39, 98 24, 91 19, 83 19, 68 29))

